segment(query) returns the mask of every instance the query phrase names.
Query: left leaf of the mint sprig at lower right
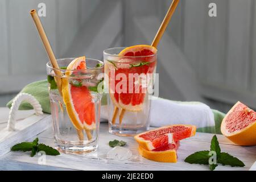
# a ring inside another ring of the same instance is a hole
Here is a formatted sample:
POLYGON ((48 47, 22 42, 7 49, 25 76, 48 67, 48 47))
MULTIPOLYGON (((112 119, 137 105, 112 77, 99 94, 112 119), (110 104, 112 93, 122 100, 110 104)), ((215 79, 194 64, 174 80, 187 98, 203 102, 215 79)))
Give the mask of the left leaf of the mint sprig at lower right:
POLYGON ((185 162, 189 164, 209 164, 209 152, 208 150, 195 152, 185 158, 185 162))

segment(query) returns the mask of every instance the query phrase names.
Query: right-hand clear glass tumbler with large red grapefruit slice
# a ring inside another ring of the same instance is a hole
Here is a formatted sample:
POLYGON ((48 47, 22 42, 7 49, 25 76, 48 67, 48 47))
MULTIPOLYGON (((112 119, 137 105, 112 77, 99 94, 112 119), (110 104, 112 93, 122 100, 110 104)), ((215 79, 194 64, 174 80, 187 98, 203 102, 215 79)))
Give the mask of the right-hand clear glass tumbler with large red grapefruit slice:
POLYGON ((119 56, 125 47, 104 51, 109 132, 130 137, 150 127, 157 55, 119 56), (151 88, 151 89, 150 89, 151 88))

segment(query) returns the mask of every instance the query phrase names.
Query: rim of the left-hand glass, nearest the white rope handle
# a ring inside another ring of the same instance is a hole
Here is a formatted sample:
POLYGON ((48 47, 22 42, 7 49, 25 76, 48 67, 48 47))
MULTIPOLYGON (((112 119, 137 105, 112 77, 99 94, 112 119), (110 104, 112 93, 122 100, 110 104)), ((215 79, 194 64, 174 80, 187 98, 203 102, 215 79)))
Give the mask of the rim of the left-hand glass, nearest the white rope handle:
MULTIPOLYGON (((67 60, 67 59, 70 59, 70 60, 74 60, 76 59, 77 57, 65 57, 65 58, 60 58, 60 59, 56 59, 56 61, 64 61, 64 60, 67 60)), ((93 61, 98 61, 99 63, 101 63, 102 65, 100 67, 95 67, 95 68, 86 68, 86 69, 79 69, 79 71, 95 71, 95 70, 100 70, 102 68, 104 68, 104 61, 101 61, 101 60, 97 60, 97 59, 92 59, 92 58, 87 58, 85 60, 93 60, 93 61)), ((59 71, 77 71, 77 69, 57 69, 57 68, 53 68, 52 67, 52 63, 51 61, 48 61, 46 63, 46 67, 50 68, 50 69, 54 69, 54 70, 59 70, 59 71)))

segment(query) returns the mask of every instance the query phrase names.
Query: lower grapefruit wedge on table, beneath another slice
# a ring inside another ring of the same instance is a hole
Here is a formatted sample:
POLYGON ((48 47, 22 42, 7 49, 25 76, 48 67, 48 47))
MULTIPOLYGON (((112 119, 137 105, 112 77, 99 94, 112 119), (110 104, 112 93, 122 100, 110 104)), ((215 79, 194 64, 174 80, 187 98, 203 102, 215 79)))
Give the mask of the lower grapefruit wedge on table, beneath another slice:
POLYGON ((139 146, 138 150, 139 154, 148 160, 164 163, 177 162, 177 146, 175 143, 168 144, 167 146, 163 146, 152 151, 145 150, 143 147, 139 146))

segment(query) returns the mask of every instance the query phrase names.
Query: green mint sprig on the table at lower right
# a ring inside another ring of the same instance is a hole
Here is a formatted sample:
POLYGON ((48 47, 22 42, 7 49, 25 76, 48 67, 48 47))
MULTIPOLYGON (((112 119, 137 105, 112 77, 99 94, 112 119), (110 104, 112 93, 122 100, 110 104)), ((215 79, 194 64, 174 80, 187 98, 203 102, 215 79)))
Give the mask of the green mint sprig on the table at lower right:
POLYGON ((189 155, 186 159, 185 162, 189 164, 208 164, 209 169, 213 171, 218 164, 222 165, 229 165, 232 167, 243 167, 245 164, 239 160, 238 158, 226 153, 226 152, 221 152, 220 144, 218 143, 217 136, 214 135, 211 142, 210 142, 210 151, 199 151, 195 152, 194 154, 189 155), (212 155, 210 155, 210 151, 216 152, 216 159, 217 163, 216 164, 210 164, 209 160, 212 155))

